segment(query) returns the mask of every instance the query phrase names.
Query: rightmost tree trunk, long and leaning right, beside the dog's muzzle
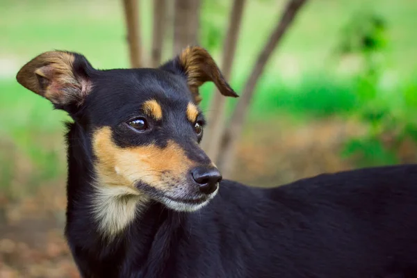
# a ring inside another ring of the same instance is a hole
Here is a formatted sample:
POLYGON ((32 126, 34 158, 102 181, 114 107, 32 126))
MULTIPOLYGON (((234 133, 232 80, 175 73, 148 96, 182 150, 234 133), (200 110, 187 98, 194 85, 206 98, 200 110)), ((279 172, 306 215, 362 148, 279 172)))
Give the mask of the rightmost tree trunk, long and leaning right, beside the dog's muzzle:
POLYGON ((234 169, 236 143, 238 142, 243 130, 245 115, 247 114, 250 101, 252 100, 252 96, 254 94, 256 81, 258 81, 261 76, 272 51, 274 51, 275 47, 277 47, 277 44, 281 41, 284 33, 288 30, 288 27, 293 22, 293 19, 295 19, 295 15, 297 15, 297 12, 300 8, 302 8, 305 2, 306 0, 288 1, 281 19, 279 19, 275 30, 272 31, 268 42, 265 44, 265 47, 256 60, 252 73, 250 74, 250 77, 245 84, 245 88, 243 89, 242 97, 240 97, 236 109, 231 115, 229 129, 227 129, 222 137, 222 149, 220 150, 220 160, 218 165, 222 169, 224 177, 230 177, 231 171, 234 169))

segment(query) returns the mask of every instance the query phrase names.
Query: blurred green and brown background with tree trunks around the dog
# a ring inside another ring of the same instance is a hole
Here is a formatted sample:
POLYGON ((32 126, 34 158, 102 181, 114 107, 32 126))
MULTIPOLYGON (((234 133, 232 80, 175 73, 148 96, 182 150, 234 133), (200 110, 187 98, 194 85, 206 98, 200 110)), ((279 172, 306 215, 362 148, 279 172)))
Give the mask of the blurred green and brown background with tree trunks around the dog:
POLYGON ((79 277, 62 236, 70 119, 15 81, 31 58, 154 67, 205 47, 242 97, 202 86, 204 149, 225 177, 279 186, 417 161, 416 15, 414 0, 0 0, 0 277, 79 277))

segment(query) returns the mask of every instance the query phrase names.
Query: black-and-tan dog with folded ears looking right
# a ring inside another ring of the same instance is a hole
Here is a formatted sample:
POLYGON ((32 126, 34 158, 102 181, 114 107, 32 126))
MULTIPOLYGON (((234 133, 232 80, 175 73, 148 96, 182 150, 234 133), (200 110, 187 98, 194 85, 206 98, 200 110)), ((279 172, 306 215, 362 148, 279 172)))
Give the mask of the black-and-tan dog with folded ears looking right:
POLYGON ((238 95, 202 47, 120 70, 49 51, 17 81, 73 119, 65 236, 82 277, 417 277, 417 165, 222 180, 199 86, 238 95))

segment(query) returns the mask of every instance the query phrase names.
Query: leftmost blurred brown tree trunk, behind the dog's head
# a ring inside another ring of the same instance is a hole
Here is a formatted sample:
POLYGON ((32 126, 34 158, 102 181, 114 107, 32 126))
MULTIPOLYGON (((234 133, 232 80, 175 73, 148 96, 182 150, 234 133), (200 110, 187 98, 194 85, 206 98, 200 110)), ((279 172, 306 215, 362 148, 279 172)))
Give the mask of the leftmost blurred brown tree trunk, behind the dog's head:
POLYGON ((142 65, 142 49, 140 48, 138 0, 123 0, 123 6, 131 67, 140 67, 142 65))

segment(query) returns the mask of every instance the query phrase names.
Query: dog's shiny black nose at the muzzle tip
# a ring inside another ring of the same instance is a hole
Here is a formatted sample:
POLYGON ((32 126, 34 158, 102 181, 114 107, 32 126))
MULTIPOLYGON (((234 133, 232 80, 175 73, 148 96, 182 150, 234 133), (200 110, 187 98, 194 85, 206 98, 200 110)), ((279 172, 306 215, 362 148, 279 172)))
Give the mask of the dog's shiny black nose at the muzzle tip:
POLYGON ((200 192, 204 194, 213 193, 222 180, 222 174, 215 167, 195 167, 191 175, 198 183, 200 192))

